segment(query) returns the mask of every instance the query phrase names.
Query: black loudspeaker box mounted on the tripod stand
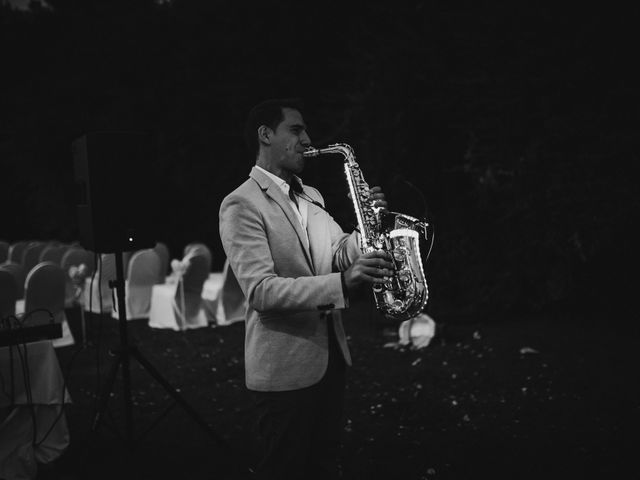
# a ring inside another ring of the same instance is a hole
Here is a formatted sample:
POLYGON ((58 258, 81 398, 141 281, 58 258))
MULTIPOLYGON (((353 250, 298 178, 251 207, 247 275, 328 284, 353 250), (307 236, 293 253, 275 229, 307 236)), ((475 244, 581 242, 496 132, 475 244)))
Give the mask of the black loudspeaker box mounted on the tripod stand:
POLYGON ((96 253, 153 247, 153 135, 91 132, 72 142, 72 154, 82 246, 96 253))

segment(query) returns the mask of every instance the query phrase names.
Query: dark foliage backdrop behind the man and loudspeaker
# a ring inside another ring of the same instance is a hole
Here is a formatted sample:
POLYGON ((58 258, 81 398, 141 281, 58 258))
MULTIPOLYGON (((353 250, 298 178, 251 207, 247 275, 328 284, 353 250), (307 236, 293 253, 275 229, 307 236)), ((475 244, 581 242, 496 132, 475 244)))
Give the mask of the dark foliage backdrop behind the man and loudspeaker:
MULTIPOLYGON (((435 226, 430 309, 610 308, 634 291, 640 206, 631 9, 504 2, 49 0, 0 7, 7 240, 77 238, 70 143, 151 130, 174 257, 220 269, 218 207, 247 176, 248 109, 299 96, 394 210, 435 226)), ((126 172, 123 172, 126 174, 126 172)), ((338 159, 307 183, 345 229, 338 159)), ((116 187, 114 187, 116 188, 116 187)))

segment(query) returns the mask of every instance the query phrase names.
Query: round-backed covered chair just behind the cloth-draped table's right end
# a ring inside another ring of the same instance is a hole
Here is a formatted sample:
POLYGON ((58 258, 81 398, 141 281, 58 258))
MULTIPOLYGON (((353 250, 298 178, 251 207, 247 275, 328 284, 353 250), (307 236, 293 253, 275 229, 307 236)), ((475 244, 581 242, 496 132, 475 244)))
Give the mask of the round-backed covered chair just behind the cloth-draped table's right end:
POLYGON ((23 325, 47 324, 53 318, 62 324, 62 337, 53 340, 54 347, 75 343, 64 312, 65 273, 60 266, 42 262, 31 269, 25 282, 23 325))

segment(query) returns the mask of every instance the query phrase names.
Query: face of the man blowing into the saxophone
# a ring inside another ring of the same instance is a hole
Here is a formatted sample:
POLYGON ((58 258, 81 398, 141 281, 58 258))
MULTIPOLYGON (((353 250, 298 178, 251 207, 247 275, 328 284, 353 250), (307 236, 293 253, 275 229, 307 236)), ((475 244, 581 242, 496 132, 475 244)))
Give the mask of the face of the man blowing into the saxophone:
POLYGON ((283 108, 284 119, 271 137, 273 165, 278 170, 300 174, 304 168, 302 152, 311 145, 302 114, 292 108, 283 108))

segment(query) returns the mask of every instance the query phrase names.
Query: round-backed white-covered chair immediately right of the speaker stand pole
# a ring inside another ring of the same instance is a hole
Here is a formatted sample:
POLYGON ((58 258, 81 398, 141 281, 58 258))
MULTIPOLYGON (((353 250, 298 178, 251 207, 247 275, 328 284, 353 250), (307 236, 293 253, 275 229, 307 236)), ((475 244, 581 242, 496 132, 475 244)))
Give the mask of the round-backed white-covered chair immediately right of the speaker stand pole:
MULTIPOLYGON (((127 320, 149 318, 151 289, 158 283, 160 257, 153 249, 139 250, 131 256, 129 273, 125 281, 125 305, 127 320)), ((115 304, 111 315, 118 317, 115 304)))

